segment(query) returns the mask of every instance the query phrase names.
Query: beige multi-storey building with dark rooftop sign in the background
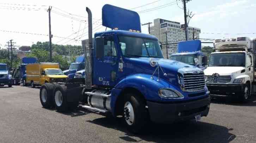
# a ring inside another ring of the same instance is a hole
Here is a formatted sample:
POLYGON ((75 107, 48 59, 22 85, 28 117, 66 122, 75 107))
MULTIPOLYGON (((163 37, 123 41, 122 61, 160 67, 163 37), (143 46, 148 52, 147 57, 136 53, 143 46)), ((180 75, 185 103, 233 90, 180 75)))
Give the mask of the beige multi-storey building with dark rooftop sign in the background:
MULTIPOLYGON (((189 39, 193 39, 193 28, 194 28, 194 37, 199 39, 199 34, 201 33, 200 28, 188 27, 189 39)), ((179 22, 164 20, 164 19, 154 19, 154 25, 150 27, 150 34, 156 36, 158 40, 165 44, 166 43, 166 31, 167 31, 167 41, 168 43, 176 43, 178 41, 185 40, 185 31, 181 29, 181 24, 179 22)), ((171 53, 176 53, 177 47, 168 48, 169 56, 171 53)), ((163 46, 163 54, 166 58, 166 49, 163 46)))

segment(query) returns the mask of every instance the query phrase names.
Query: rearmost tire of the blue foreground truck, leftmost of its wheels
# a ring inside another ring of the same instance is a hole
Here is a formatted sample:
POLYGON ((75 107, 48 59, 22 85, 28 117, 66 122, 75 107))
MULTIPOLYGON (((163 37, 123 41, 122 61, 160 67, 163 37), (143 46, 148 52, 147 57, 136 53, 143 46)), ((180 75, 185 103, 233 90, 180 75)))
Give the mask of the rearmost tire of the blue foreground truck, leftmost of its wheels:
POLYGON ((40 88, 40 102, 44 108, 53 108, 53 91, 55 84, 45 83, 40 88))

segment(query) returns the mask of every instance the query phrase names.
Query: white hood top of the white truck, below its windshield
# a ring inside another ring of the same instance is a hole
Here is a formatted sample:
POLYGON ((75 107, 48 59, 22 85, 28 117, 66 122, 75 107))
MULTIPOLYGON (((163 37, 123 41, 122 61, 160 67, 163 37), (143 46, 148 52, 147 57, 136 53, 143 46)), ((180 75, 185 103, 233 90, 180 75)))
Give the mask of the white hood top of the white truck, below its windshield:
POLYGON ((210 66, 207 67, 203 72, 205 75, 212 76, 213 73, 218 73, 221 76, 230 76, 232 73, 240 72, 244 70, 241 66, 210 66))

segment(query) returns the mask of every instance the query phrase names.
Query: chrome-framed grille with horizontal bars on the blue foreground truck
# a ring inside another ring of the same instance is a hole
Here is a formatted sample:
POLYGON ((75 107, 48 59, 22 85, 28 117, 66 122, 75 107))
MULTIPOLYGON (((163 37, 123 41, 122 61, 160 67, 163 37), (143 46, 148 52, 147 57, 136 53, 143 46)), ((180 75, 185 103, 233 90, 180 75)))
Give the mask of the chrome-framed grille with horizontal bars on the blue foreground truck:
POLYGON ((184 73, 184 90, 185 91, 200 91, 205 88, 205 74, 199 73, 184 73))

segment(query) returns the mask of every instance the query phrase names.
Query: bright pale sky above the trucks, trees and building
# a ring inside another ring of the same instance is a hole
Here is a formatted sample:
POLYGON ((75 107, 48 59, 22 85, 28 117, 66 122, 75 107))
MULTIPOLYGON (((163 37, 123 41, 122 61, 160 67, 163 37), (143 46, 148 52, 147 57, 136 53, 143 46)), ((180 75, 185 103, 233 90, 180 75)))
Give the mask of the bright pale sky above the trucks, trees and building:
MULTIPOLYGON (((47 6, 53 7, 54 11, 62 12, 62 9, 66 12, 77 14, 81 16, 87 16, 85 12, 85 7, 88 6, 92 10, 93 18, 101 18, 101 8, 104 4, 111 4, 122 8, 134 8, 141 5, 154 2, 156 0, 72 0, 72 1, 60 1, 60 0, 1 0, 0 3, 0 18, 1 26, 0 30, 6 31, 18 31, 18 32, 29 32, 29 33, 39 33, 48 34, 48 13, 46 11, 21 11, 21 10, 11 10, 5 9, 7 7, 17 7, 17 5, 6 5, 8 4, 25 4, 25 5, 37 5, 37 6, 23 6, 19 7, 33 7, 33 8, 48 8, 47 6), (41 5, 46 5, 41 7, 41 5)), ((133 9, 134 11, 143 11, 145 9, 154 8, 160 5, 165 5, 175 0, 160 0, 153 4, 133 9)), ((178 4, 182 6, 181 4, 178 4)), ((201 38, 223 38, 223 37, 237 37, 246 36, 250 38, 256 38, 256 34, 242 34, 237 35, 235 33, 256 33, 256 1, 255 0, 191 0, 187 4, 187 8, 195 13, 195 16, 191 19, 189 26, 194 26, 201 28, 201 38), (229 33, 225 34, 203 34, 207 33, 229 33), (231 34, 230 34, 231 33, 231 34), (232 34, 233 33, 233 34, 232 34)), ((84 23, 72 20, 71 18, 63 17, 59 14, 52 13, 52 34, 59 37, 67 37, 73 32, 83 29, 85 27, 84 23)), ((175 3, 171 6, 167 6, 155 11, 150 11, 140 14, 141 23, 153 22, 153 19, 162 18, 171 21, 177 21, 184 23, 183 9, 180 9, 175 3)), ((79 17, 79 19, 84 19, 79 17)), ((98 23, 96 23, 98 24, 98 23)), ((98 25, 93 25, 96 27, 98 25)), ((99 24, 100 25, 100 24, 99 24)), ((87 30, 87 29, 86 29, 87 30)), ((86 30, 84 32, 86 32, 86 30)), ((97 31, 105 30, 104 27, 99 29, 96 27, 97 31)), ((142 32, 147 33, 147 26, 142 26, 142 32)), ((77 37, 83 34, 83 31, 78 34, 73 34, 69 38, 77 37)), ((37 41, 48 41, 47 36, 43 35, 31 35, 31 34, 19 34, 19 33, 8 33, 0 31, 0 47, 6 44, 10 39, 13 39, 17 45, 31 45, 37 41)), ((80 36, 81 37, 81 36, 80 36)), ((79 37, 79 38, 80 38, 79 37)), ((80 39, 87 38, 84 34, 80 39)), ((78 38, 77 38, 78 39, 78 38)), ((80 45, 80 41, 77 42, 69 39, 60 41, 60 38, 54 37, 53 43, 57 44, 72 44, 80 45), (60 41, 58 43, 58 41, 60 41)))

